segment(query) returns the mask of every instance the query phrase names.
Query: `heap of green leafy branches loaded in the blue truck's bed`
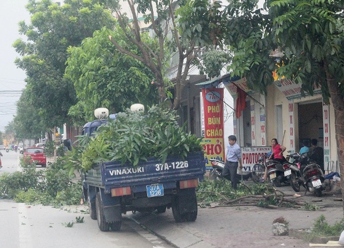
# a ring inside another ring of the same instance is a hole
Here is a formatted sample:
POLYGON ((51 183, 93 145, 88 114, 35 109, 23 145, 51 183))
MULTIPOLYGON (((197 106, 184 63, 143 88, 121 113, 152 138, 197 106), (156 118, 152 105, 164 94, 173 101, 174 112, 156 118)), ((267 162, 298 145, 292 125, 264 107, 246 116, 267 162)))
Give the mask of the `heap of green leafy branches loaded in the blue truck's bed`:
POLYGON ((134 167, 149 157, 165 162, 168 156, 186 157, 201 151, 200 139, 178 126, 175 111, 152 106, 147 115, 118 113, 97 131, 82 152, 82 168, 87 171, 101 161, 121 161, 134 167))

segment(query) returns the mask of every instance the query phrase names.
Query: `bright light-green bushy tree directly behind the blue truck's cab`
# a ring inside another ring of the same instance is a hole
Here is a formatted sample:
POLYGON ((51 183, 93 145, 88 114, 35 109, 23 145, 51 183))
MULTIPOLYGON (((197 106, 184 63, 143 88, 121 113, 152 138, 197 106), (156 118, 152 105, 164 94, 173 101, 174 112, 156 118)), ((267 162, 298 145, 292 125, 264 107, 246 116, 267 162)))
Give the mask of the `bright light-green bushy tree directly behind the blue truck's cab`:
MULTIPOLYGON (((69 110, 75 121, 84 123, 84 116, 86 120, 92 120, 94 109, 100 106, 119 112, 135 103, 151 106, 159 102, 156 87, 151 85, 152 71, 142 62, 115 49, 109 35, 131 53, 140 54, 135 45, 127 42, 117 25, 113 31, 104 27, 92 38, 84 39, 81 46, 69 48, 65 77, 73 82, 78 99, 69 110)), ((142 34, 142 39, 151 48, 157 47, 148 34, 142 34)))

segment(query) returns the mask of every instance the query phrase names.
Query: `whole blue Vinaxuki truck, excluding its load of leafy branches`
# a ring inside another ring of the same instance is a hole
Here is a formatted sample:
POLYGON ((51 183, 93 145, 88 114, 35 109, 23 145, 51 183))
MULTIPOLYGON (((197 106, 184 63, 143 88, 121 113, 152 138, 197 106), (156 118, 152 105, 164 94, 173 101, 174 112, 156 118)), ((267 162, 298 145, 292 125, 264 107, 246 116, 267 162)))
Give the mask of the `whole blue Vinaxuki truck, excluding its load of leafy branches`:
MULTIPOLYGON (((92 135, 96 126, 105 123, 87 123, 83 133, 92 135)), ((165 213, 172 208, 176 222, 195 221, 195 189, 205 172, 203 152, 189 153, 186 158, 168 157, 164 163, 149 158, 136 167, 119 161, 103 162, 84 175, 84 197, 101 231, 120 230, 122 213, 129 211, 165 213)))

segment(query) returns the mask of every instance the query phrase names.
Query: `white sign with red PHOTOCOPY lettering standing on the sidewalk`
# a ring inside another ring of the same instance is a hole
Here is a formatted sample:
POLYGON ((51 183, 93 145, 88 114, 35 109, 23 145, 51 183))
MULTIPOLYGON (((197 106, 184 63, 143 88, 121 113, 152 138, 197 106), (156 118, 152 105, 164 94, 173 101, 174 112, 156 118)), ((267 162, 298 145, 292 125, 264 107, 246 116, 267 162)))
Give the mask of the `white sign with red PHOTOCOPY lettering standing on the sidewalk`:
POLYGON ((271 151, 271 146, 241 147, 242 171, 250 172, 258 159, 271 151))

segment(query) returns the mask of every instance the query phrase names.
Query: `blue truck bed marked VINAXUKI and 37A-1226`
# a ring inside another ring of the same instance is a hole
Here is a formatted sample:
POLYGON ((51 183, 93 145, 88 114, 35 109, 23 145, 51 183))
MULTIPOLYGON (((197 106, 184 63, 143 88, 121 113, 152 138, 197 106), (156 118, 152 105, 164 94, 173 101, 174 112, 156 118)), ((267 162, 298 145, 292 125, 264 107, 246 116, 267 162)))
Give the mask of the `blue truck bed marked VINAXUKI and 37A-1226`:
POLYGON ((163 164, 156 158, 149 158, 135 168, 131 164, 122 166, 118 161, 103 162, 88 171, 85 181, 108 193, 111 188, 203 179, 205 171, 203 152, 196 152, 189 153, 185 159, 169 157, 163 164))

